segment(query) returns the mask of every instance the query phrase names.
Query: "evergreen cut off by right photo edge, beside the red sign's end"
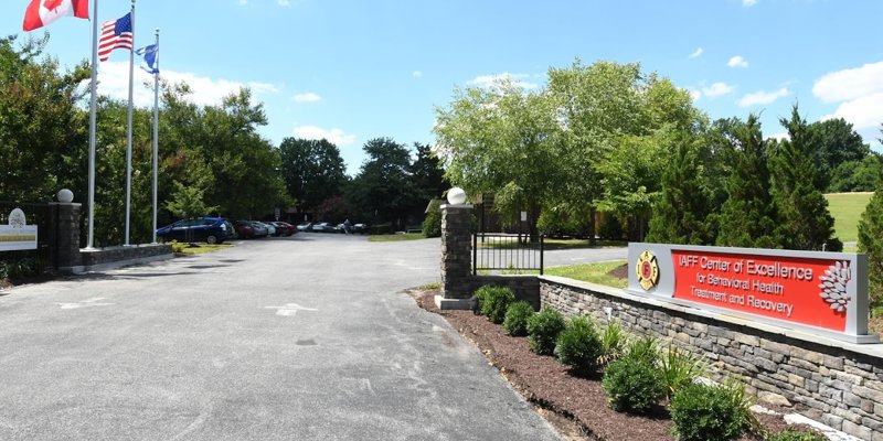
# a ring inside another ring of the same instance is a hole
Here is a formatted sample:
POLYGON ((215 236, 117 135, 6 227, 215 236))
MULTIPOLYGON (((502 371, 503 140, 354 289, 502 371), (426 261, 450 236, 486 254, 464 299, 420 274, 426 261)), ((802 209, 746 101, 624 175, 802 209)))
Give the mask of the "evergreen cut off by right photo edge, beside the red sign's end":
POLYGON ((859 220, 859 252, 868 255, 871 306, 879 306, 883 302, 883 174, 877 175, 876 191, 859 220))

